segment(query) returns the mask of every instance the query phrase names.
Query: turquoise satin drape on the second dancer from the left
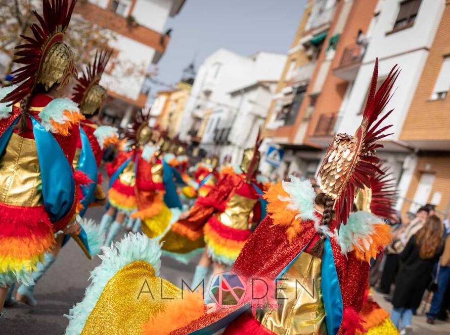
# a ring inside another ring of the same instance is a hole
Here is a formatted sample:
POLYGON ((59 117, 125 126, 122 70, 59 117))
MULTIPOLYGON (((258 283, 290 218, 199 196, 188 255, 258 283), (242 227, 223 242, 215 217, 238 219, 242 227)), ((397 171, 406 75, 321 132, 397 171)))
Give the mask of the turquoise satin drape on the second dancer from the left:
POLYGON ((86 212, 89 203, 94 200, 94 193, 97 186, 97 181, 99 179, 97 161, 94 156, 94 152, 91 148, 91 143, 86 136, 84 130, 80 127, 80 139, 81 139, 81 152, 80 157, 78 159, 77 170, 85 173, 87 177, 89 177, 93 183, 81 186, 81 190, 83 192, 83 199, 81 200, 81 204, 83 205, 83 209, 81 209, 79 215, 83 217, 86 212))

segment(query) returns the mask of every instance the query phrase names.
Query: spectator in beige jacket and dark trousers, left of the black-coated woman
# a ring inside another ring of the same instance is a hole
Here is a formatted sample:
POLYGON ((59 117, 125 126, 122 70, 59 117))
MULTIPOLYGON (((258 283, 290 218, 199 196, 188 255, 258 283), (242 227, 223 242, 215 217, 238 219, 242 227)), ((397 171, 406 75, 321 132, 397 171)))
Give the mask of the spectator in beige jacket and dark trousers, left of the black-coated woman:
POLYGON ((411 236, 416 234, 424 225, 428 217, 428 208, 421 207, 416 213, 416 218, 408 225, 400 225, 392 230, 392 243, 386 248, 386 261, 381 275, 378 292, 389 294, 391 285, 395 281, 400 260, 399 253, 403 251, 411 236))

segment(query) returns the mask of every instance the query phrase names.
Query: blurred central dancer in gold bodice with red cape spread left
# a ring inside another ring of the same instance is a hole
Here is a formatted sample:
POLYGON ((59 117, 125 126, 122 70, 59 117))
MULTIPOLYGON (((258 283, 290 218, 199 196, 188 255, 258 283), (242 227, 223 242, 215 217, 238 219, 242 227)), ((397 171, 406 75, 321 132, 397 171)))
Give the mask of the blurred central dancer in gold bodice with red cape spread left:
POLYGON ((232 266, 252 226, 265 216, 261 186, 255 179, 258 146, 259 140, 254 148, 244 150, 240 173, 224 174, 161 239, 163 253, 183 263, 206 245, 195 270, 194 285, 207 276, 211 265, 214 274, 232 266))

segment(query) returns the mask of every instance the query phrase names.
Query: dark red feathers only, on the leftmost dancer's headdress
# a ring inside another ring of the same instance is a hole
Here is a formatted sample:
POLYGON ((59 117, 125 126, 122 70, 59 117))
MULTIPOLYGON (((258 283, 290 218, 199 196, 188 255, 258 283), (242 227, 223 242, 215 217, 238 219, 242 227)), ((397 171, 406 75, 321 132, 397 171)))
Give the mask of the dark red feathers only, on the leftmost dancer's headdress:
POLYGON ((33 37, 21 35, 25 43, 16 46, 14 62, 24 65, 11 73, 14 75, 11 83, 17 84, 18 87, 7 94, 1 102, 14 104, 34 90, 42 61, 50 46, 62 41, 75 4, 76 0, 43 0, 42 16, 33 11, 39 21, 39 24, 33 23, 30 26, 33 37), (57 36, 58 34, 61 36, 57 36))

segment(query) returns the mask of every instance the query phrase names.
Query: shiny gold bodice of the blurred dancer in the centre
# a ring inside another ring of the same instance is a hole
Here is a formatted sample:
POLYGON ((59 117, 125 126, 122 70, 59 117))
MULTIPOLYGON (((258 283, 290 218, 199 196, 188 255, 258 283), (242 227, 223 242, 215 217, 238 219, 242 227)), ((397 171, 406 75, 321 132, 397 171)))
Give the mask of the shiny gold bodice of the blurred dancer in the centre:
POLYGON ((216 217, 222 225, 247 230, 249 218, 253 212, 253 207, 258 200, 249 199, 239 194, 234 194, 227 202, 227 208, 222 213, 217 213, 216 217))

